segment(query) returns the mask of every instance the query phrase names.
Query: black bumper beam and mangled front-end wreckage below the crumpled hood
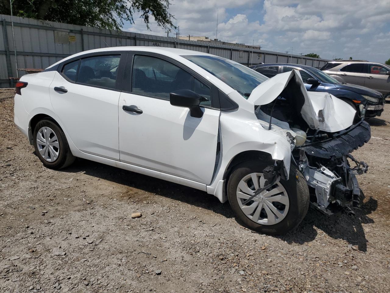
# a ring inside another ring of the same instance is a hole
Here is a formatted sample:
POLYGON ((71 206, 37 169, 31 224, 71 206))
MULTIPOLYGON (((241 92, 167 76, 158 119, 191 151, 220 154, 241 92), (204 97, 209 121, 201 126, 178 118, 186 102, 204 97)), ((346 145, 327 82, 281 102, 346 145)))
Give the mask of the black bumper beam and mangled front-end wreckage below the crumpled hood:
POLYGON ((368 166, 349 153, 362 147, 370 138, 370 126, 362 120, 333 134, 330 139, 297 147, 300 150, 299 168, 316 196, 316 200, 311 201, 314 207, 333 217, 344 209, 352 211, 358 206, 360 188, 356 175, 366 173, 368 166), (347 159, 356 166, 351 168, 347 159))

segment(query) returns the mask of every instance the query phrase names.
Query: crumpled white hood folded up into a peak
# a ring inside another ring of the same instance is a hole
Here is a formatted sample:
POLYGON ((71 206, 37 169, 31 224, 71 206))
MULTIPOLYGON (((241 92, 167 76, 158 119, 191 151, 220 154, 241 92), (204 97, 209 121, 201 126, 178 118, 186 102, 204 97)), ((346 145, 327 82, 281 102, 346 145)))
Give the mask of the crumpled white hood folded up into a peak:
POLYGON ((301 115, 310 128, 337 132, 353 124, 355 109, 329 93, 308 92, 297 70, 277 74, 262 82, 252 91, 248 102, 255 106, 269 104, 282 93, 290 81, 297 83, 305 100, 301 115))

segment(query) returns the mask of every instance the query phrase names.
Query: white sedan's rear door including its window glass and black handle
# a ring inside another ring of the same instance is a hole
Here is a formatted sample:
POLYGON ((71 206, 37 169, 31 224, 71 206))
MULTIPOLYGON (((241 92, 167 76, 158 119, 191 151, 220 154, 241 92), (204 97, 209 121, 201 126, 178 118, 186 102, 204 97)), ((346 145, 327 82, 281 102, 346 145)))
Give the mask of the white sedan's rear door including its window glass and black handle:
POLYGON ((53 109, 82 152, 119 161, 119 72, 126 54, 92 54, 67 61, 51 82, 53 109))

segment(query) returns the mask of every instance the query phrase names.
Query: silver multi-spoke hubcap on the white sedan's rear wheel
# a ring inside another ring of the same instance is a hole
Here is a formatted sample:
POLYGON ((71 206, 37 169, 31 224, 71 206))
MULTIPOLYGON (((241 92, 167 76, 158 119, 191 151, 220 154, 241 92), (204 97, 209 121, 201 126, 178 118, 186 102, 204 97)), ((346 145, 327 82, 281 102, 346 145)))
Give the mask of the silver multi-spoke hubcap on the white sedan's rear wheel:
POLYGON ((39 154, 45 161, 53 163, 60 153, 60 144, 53 129, 42 127, 37 133, 37 147, 39 154))

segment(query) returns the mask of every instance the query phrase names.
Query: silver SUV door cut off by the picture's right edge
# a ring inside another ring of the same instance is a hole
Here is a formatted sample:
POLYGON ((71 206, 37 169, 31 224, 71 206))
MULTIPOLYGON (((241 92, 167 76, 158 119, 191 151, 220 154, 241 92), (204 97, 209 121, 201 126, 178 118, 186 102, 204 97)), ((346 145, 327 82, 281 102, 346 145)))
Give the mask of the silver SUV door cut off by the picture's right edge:
POLYGON ((365 74, 364 86, 375 89, 382 94, 390 92, 390 75, 386 75, 387 71, 390 71, 390 69, 383 65, 368 64, 368 73, 365 74))

